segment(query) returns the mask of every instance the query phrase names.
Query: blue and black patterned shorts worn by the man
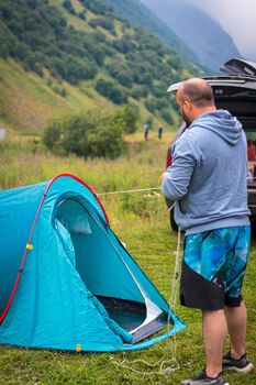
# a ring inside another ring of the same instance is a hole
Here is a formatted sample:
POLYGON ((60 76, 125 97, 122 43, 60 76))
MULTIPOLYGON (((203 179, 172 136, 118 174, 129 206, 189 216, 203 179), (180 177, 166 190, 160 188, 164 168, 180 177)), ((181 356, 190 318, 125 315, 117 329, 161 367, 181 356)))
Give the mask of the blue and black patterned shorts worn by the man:
POLYGON ((181 305, 203 310, 240 306, 249 242, 249 226, 187 235, 180 282, 181 305))

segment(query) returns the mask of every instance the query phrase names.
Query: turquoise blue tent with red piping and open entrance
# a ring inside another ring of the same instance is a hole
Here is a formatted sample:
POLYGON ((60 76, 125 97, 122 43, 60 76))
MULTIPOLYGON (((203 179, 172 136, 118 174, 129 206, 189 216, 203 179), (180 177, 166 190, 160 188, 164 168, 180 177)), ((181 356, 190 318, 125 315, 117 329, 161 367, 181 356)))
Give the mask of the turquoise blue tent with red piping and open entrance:
POLYGON ((1 344, 113 352, 183 328, 82 180, 0 191, 1 344))

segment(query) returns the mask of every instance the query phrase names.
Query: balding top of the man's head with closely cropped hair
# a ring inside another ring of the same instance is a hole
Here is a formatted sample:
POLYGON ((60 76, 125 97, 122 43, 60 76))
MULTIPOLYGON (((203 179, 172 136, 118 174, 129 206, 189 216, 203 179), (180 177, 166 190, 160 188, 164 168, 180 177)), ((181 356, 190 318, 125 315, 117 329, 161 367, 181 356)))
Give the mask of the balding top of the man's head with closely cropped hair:
POLYGON ((214 106, 211 86, 203 79, 193 78, 181 85, 181 97, 198 108, 214 106))

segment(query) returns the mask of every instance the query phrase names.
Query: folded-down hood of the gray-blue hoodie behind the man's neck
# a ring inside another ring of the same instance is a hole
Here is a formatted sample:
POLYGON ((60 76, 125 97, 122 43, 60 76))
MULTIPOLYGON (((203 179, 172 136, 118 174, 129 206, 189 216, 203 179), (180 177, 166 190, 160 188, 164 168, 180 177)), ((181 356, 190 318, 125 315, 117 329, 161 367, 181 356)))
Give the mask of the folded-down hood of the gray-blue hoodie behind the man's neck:
POLYGON ((201 114, 190 124, 193 127, 210 130, 221 136, 230 145, 235 145, 242 135, 242 124, 226 110, 216 110, 201 114))

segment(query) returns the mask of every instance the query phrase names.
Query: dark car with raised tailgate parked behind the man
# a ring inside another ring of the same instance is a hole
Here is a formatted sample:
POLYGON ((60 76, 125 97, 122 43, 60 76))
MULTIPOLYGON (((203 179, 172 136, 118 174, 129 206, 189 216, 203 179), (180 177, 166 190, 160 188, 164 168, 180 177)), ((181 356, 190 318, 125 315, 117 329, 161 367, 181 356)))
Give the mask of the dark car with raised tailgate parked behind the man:
MULTIPOLYGON (((218 109, 229 110, 235 116, 245 131, 247 138, 248 177, 247 196, 251 209, 251 223, 256 224, 256 63, 241 58, 232 58, 226 62, 221 70, 225 75, 202 77, 212 87, 214 101, 218 109)), ((168 88, 168 91, 177 91, 182 81, 176 82, 168 88)), ((171 147, 186 130, 182 122, 177 131, 168 151, 166 167, 171 165, 171 147)), ((166 199, 167 207, 172 201, 166 199)), ((174 219, 174 210, 170 210, 170 226, 177 230, 174 219)))

